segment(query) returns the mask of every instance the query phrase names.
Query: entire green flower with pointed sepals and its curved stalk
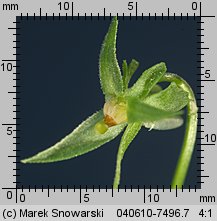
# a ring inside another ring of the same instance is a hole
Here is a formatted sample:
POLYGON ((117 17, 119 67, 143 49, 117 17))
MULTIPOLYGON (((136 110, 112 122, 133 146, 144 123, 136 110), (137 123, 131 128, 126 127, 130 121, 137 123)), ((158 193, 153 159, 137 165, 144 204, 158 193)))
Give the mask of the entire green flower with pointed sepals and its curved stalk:
POLYGON ((181 188, 188 171, 197 130, 197 105, 188 83, 175 74, 166 73, 161 62, 145 70, 137 82, 128 88, 139 63, 122 64, 122 74, 116 59, 118 20, 113 18, 105 36, 99 59, 99 73, 105 104, 72 133, 54 146, 22 160, 22 163, 48 163, 71 159, 92 151, 114 139, 126 127, 119 146, 113 187, 120 183, 124 154, 142 126, 168 130, 183 124, 181 114, 187 106, 187 123, 181 154, 172 181, 172 188, 181 188), (157 83, 170 82, 166 89, 157 83))

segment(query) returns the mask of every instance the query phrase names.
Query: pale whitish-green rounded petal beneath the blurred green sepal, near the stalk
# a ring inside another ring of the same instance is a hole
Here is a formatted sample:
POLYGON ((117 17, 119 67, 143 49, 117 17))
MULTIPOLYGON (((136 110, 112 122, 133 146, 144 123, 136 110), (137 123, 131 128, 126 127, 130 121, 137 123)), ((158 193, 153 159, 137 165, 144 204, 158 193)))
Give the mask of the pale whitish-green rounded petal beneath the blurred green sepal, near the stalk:
POLYGON ((154 122, 144 122, 143 126, 150 130, 171 130, 183 125, 183 119, 180 116, 165 118, 154 122))

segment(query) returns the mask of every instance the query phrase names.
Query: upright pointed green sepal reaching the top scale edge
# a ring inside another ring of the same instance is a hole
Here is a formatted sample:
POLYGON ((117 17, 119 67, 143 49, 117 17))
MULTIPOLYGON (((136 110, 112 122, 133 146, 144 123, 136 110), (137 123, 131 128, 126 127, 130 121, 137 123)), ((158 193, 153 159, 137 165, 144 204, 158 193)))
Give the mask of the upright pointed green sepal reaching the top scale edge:
POLYGON ((106 97, 118 96, 123 92, 123 80, 116 58, 117 17, 112 19, 105 36, 99 57, 99 73, 102 91, 106 97))

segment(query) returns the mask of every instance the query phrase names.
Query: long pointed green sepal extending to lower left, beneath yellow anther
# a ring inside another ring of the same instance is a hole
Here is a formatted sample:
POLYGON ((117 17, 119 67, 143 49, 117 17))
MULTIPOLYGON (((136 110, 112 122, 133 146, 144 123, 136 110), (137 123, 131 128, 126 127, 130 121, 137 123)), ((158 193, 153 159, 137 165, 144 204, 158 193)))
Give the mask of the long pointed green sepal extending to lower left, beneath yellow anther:
POLYGON ((60 142, 21 162, 48 163, 80 156, 114 139, 126 126, 120 124, 110 127, 105 133, 101 134, 95 129, 95 125, 101 122, 102 119, 102 111, 93 114, 60 142))

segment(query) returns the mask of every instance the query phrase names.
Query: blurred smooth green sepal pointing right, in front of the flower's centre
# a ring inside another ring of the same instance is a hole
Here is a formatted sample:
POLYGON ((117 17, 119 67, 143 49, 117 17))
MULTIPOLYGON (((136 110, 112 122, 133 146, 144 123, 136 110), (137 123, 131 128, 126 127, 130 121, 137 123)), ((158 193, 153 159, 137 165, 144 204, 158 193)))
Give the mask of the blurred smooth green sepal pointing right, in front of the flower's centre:
POLYGON ((136 98, 128 99, 127 102, 127 119, 129 123, 158 121, 165 118, 180 115, 181 112, 168 112, 160 110, 139 101, 136 98))

